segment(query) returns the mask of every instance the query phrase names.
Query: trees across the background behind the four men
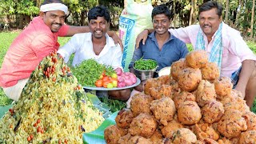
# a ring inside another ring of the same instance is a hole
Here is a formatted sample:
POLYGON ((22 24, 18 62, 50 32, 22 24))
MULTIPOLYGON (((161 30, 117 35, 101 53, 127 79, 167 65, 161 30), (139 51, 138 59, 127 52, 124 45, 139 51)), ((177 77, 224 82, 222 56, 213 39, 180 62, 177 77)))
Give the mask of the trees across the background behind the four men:
MULTIPOLYGON (((38 15, 43 0, 0 0, 0 23, 9 23, 12 27, 23 28, 30 18, 38 15)), ((151 0, 153 6, 166 4, 174 14, 174 27, 189 26, 198 23, 198 7, 209 0, 151 0)), ((63 0, 70 14, 66 23, 74 26, 86 26, 87 13, 98 5, 110 10, 110 28, 118 28, 123 0, 63 0)), ((254 0, 218 0, 222 3, 224 22, 242 32, 244 36, 254 38, 256 33, 254 0)))

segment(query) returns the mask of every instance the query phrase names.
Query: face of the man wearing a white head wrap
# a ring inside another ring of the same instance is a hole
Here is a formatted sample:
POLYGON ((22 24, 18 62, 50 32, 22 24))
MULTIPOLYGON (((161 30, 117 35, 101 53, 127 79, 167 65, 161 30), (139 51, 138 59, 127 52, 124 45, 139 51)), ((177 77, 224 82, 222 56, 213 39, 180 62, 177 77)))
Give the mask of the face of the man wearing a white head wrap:
POLYGON ((65 22, 65 13, 62 10, 40 12, 40 16, 53 33, 58 32, 65 22))

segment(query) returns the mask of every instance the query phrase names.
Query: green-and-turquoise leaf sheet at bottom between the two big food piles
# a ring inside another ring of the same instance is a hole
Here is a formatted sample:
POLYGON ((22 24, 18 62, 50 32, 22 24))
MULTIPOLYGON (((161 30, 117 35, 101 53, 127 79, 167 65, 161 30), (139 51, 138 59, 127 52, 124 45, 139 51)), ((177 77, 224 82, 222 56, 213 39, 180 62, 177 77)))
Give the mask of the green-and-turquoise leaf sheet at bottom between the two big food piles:
POLYGON ((83 143, 88 144, 106 144, 104 139, 104 130, 107 126, 115 125, 114 118, 118 115, 118 112, 115 112, 114 114, 110 115, 109 118, 106 118, 104 122, 102 122, 101 126, 98 126, 98 129, 91 131, 90 133, 85 133, 82 135, 83 143))

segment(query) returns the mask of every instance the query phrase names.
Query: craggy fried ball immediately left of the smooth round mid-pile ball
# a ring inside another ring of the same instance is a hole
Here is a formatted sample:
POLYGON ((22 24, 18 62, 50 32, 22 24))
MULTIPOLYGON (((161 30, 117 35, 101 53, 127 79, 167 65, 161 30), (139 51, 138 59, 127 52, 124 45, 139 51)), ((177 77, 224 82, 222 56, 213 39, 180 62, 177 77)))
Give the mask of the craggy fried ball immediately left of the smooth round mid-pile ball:
POLYGON ((174 101, 169 97, 163 97, 150 103, 150 110, 162 125, 166 126, 174 118, 176 112, 174 101))

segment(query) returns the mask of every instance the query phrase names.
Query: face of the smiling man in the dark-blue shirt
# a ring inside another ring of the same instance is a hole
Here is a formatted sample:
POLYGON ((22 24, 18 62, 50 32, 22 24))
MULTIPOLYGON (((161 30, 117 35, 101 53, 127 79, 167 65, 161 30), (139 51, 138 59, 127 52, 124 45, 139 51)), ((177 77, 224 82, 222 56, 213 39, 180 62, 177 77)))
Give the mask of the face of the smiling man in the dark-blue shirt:
POLYGON ((153 27, 156 34, 168 33, 169 26, 170 26, 170 20, 166 16, 166 14, 157 14, 153 17, 153 27))

